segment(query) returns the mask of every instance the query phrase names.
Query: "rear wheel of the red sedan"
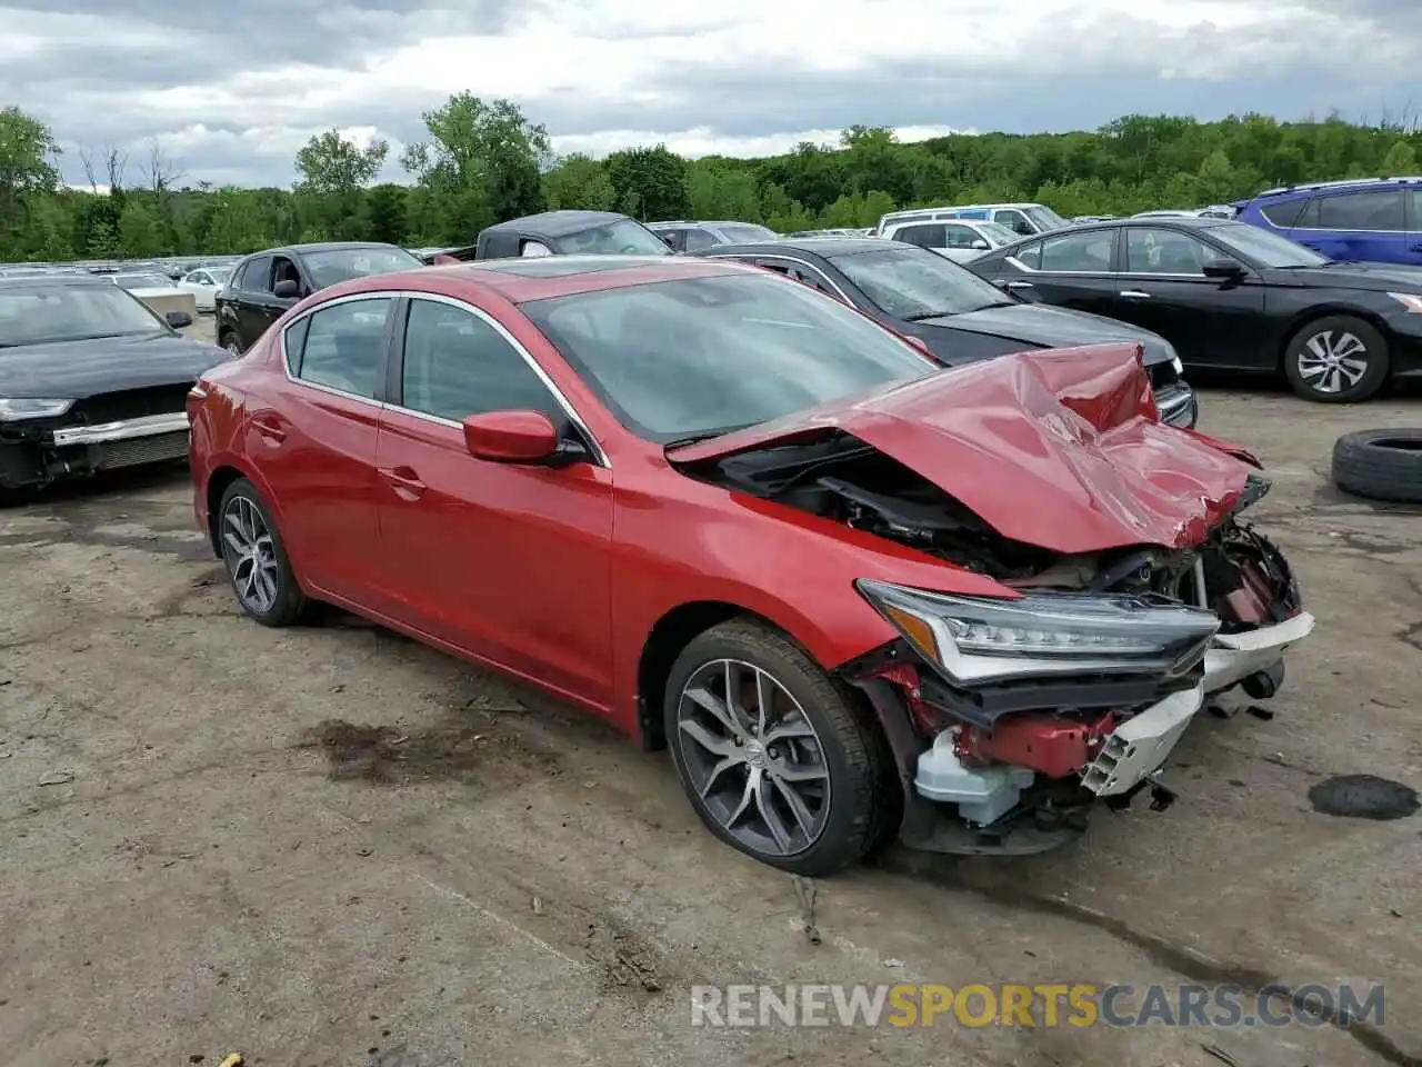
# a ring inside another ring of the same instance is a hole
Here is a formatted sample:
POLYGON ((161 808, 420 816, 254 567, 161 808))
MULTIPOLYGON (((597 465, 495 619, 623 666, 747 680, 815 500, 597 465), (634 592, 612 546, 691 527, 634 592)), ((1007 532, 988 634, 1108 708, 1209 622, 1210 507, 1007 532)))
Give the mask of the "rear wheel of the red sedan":
POLYGON ((263 626, 290 626, 301 619, 306 595, 296 582, 266 504, 246 478, 237 478, 222 494, 218 541, 228 580, 243 612, 263 626))

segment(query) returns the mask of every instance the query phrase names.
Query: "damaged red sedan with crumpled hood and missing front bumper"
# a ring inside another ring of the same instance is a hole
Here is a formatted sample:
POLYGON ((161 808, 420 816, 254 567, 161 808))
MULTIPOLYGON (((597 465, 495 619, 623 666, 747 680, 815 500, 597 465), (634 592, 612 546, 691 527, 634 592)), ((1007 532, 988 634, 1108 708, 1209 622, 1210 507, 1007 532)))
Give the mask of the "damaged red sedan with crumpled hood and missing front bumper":
POLYGON ((1257 461, 1162 425, 1133 346, 946 370, 735 263, 347 282, 189 414, 253 619, 326 602, 536 683, 802 874, 1163 807, 1207 694, 1271 696, 1313 629, 1257 461))

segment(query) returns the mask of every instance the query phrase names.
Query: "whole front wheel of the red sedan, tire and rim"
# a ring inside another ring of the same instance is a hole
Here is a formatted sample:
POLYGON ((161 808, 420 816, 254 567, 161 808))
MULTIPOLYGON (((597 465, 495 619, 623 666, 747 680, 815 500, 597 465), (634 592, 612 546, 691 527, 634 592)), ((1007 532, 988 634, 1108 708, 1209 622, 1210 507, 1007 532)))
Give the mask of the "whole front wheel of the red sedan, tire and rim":
POLYGON ((664 716, 681 785, 728 845, 820 876, 882 841, 883 736, 778 630, 732 620, 695 637, 671 669, 664 716))

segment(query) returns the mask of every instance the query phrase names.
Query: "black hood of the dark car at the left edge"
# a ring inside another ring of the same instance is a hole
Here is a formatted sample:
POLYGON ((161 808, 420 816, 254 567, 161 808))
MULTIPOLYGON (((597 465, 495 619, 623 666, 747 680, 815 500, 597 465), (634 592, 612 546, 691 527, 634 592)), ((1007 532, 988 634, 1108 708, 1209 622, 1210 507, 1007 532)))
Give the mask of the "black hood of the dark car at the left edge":
POLYGON ((166 333, 0 349, 0 397, 84 400, 125 388, 192 384, 226 359, 213 344, 166 333))

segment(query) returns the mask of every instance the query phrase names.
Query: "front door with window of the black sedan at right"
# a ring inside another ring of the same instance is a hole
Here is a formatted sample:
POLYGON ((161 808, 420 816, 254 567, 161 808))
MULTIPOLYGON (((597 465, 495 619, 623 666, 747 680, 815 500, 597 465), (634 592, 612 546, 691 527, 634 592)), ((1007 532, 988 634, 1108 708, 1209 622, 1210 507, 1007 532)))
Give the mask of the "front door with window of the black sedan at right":
POLYGON ((1105 314, 1159 333, 1187 366, 1258 370, 1270 361, 1258 275, 1240 263, 1241 280, 1206 277, 1204 263, 1239 260, 1192 233, 1123 232, 1119 287, 1105 314))

